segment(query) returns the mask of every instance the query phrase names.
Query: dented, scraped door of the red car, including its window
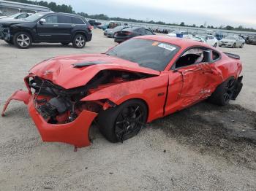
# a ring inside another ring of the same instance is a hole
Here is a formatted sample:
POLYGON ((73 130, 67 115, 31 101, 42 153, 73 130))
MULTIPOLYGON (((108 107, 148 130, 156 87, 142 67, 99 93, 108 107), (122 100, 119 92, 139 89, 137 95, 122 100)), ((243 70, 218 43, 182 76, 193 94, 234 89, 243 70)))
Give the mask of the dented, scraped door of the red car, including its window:
POLYGON ((210 95, 211 68, 206 64, 210 54, 205 47, 192 47, 184 52, 169 71, 165 115, 184 109, 210 95), (208 74, 206 74, 208 73, 208 74))

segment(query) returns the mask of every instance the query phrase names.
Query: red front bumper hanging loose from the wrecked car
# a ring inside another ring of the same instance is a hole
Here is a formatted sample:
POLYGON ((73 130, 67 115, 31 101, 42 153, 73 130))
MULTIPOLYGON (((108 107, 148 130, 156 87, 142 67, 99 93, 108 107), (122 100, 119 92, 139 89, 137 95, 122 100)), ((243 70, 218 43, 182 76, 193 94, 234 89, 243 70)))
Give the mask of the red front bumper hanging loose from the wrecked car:
MULTIPOLYGON (((83 110, 79 116, 72 122, 65 124, 50 124, 37 112, 34 106, 34 96, 25 91, 17 91, 8 101, 19 100, 28 105, 29 114, 34 120, 37 129, 42 137, 42 141, 63 142, 72 144, 75 147, 86 147, 90 145, 89 128, 91 122, 97 116, 97 113, 83 110), (28 101, 29 99, 29 101, 28 101)), ((7 109, 9 102, 7 101, 4 111, 7 109)))

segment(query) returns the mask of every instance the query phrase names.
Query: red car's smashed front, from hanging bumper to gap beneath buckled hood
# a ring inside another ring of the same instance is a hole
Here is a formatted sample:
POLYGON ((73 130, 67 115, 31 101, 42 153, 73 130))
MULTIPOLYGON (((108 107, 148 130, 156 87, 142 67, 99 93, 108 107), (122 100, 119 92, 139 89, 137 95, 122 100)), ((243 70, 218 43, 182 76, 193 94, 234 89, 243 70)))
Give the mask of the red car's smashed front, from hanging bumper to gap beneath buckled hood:
MULTIPOLYGON (((45 74, 45 73, 44 73, 45 74)), ((49 74, 50 75, 50 74, 49 74)), ((97 91, 148 77, 128 71, 99 71, 83 86, 65 89, 51 80, 29 74, 24 81, 28 91, 18 90, 7 100, 2 116, 11 100, 23 101, 37 125, 42 141, 56 141, 86 147, 90 144, 89 128, 97 115, 116 106, 106 98, 83 101, 97 91)), ((110 93, 112 95, 112 93, 110 93)))

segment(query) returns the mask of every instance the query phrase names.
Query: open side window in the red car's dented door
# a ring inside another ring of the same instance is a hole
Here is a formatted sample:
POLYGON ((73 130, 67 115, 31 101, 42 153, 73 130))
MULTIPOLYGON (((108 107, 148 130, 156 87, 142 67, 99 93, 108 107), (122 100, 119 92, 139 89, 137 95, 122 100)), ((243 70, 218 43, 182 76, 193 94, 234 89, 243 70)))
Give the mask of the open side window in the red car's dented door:
POLYGON ((197 63, 208 62, 208 50, 203 47, 193 47, 184 52, 178 61, 176 61, 175 67, 181 68, 184 66, 190 66, 197 63))

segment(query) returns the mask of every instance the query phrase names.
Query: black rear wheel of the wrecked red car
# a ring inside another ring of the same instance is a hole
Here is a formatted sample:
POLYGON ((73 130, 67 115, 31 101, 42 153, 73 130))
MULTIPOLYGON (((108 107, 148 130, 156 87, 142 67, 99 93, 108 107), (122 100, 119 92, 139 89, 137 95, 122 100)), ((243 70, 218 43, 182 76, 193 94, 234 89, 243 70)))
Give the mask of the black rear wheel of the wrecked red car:
POLYGON ((225 106, 229 103, 230 99, 233 98, 233 95, 236 90, 236 79, 230 77, 225 82, 222 82, 214 93, 208 98, 212 104, 217 104, 219 106, 225 106))

